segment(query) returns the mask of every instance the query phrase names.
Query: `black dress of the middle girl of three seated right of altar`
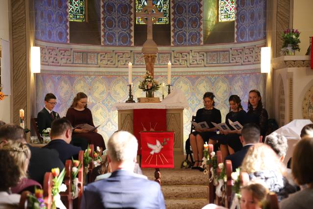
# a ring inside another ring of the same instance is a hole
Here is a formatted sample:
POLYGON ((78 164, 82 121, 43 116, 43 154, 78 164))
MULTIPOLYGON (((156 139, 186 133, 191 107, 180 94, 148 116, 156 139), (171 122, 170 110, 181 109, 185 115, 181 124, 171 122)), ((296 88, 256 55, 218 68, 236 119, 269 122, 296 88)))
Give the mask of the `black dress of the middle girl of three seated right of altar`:
MULTIPOLYGON (((240 124, 245 125, 246 123, 246 111, 240 110, 238 112, 229 112, 226 115, 225 123, 230 128, 230 130, 235 130, 231 125, 229 125, 230 119, 233 122, 240 122, 240 124)), ((239 139, 239 134, 219 134, 213 137, 214 140, 218 140, 220 144, 228 145, 230 146, 235 152, 241 150, 243 148, 243 144, 241 143, 239 139)))

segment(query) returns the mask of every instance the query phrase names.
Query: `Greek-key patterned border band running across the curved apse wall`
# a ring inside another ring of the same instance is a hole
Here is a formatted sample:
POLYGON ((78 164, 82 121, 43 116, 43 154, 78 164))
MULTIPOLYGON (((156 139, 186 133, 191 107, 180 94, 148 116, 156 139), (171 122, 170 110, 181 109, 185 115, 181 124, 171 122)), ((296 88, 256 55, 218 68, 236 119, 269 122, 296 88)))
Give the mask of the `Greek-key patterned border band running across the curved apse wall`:
MULTIPOLYGON (((118 68, 126 67, 129 62, 134 67, 144 67, 144 57, 140 47, 103 47, 77 45, 53 45, 36 41, 41 47, 43 66, 118 68), (113 49, 114 48, 114 49, 113 49), (117 49, 117 50, 116 50, 117 49)), ((260 63, 260 48, 265 40, 232 45, 194 46, 194 47, 159 47, 156 68, 166 67, 169 60, 173 67, 220 67, 241 66, 260 63)))

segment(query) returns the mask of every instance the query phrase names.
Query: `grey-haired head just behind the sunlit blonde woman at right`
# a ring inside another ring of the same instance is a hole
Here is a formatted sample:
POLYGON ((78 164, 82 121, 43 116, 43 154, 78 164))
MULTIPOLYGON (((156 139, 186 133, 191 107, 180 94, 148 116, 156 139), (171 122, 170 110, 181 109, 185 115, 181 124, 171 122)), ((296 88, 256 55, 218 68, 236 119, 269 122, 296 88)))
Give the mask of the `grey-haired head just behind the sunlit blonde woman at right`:
POLYGON ((265 138, 265 143, 274 150, 281 162, 283 162, 288 149, 286 137, 281 134, 272 133, 265 138))

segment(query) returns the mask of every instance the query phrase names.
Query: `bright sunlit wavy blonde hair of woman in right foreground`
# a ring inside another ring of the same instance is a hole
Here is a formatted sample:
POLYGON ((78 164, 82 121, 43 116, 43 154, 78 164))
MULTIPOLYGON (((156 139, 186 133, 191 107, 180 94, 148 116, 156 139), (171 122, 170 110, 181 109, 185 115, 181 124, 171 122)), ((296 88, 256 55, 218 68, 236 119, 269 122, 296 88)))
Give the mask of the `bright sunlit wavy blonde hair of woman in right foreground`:
POLYGON ((249 148, 240 171, 254 173, 262 170, 285 172, 277 154, 268 145, 257 143, 249 148))

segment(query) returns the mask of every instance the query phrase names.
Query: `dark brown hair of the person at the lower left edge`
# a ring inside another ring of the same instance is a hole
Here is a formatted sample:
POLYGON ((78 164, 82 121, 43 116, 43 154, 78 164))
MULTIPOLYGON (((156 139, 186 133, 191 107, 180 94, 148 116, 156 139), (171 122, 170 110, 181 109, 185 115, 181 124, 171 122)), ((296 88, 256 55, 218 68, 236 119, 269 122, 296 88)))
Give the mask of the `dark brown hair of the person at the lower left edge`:
POLYGON ((0 191, 7 191, 16 186, 20 180, 20 170, 7 150, 0 150, 0 191))

